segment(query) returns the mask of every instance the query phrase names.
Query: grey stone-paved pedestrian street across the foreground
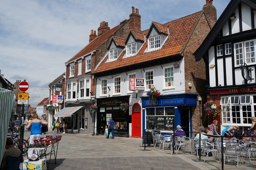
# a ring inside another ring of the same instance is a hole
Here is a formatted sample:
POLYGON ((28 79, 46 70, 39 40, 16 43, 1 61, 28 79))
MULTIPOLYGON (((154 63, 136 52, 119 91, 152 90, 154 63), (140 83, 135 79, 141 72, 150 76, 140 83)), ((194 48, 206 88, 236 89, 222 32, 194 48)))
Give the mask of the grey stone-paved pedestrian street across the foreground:
MULTIPOLYGON (((30 132, 24 132, 24 139, 30 132)), ((42 137, 51 135, 51 132, 42 134, 42 137)), ((57 134, 58 135, 58 134, 57 134)), ((153 146, 142 147, 141 138, 115 137, 107 139, 103 135, 90 134, 61 134, 58 145, 56 165, 50 164, 50 170, 216 170, 221 169, 221 163, 214 156, 206 162, 198 162, 193 154, 170 154, 171 150, 158 150, 153 146)), ((49 155, 47 159, 49 160, 49 155)), ((52 155, 53 157, 53 155, 52 155)), ((203 157, 205 158, 205 157, 203 157)), ((24 159, 26 155, 24 155, 24 159)), ((249 160, 242 159, 242 164, 236 167, 235 163, 226 163, 225 170, 255 170, 256 157, 249 160)), ((51 159, 51 163, 54 159, 51 159)))

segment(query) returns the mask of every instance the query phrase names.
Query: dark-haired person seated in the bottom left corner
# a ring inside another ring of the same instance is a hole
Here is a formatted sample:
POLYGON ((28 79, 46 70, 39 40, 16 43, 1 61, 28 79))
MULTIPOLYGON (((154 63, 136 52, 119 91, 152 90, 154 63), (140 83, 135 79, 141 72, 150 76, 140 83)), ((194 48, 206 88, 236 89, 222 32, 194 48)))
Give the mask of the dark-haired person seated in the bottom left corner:
MULTIPOLYGON (((12 138, 7 138, 6 139, 6 144, 5 144, 5 151, 4 151, 4 156, 1 162, 0 170, 5 170, 6 169, 6 158, 7 156, 12 156, 14 158, 19 158, 21 155, 21 150, 14 147, 13 145, 13 140, 12 138)), ((23 157, 22 157, 22 162, 23 162, 23 157)))

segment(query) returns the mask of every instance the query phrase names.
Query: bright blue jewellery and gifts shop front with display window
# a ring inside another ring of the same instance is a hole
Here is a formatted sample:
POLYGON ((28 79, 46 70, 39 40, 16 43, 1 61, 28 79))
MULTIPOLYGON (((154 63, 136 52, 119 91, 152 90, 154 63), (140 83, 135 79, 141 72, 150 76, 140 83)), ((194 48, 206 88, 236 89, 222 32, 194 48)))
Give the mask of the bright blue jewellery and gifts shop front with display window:
MULTIPOLYGON (((160 95, 156 101, 142 99, 142 129, 173 130, 177 125, 192 131, 192 107, 196 107, 196 94, 160 95)), ((187 134, 189 136, 189 134, 187 134)))

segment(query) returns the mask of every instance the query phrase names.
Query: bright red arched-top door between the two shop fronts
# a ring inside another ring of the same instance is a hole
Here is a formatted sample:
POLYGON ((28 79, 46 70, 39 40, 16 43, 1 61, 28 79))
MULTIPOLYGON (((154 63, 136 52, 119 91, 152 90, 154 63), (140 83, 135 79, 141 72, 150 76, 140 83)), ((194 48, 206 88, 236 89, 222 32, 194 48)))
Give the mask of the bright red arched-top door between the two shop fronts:
POLYGON ((132 106, 132 137, 141 138, 141 107, 138 103, 132 106))

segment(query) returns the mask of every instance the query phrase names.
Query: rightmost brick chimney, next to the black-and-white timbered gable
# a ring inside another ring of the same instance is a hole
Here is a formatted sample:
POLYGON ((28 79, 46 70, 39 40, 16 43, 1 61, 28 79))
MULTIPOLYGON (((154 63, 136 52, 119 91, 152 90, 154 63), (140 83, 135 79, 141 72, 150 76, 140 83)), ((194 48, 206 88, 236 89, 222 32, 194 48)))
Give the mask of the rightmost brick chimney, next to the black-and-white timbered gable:
POLYGON ((217 13, 216 8, 212 5, 213 0, 206 0, 206 4, 203 6, 204 14, 211 26, 214 26, 215 22, 217 21, 217 13))

